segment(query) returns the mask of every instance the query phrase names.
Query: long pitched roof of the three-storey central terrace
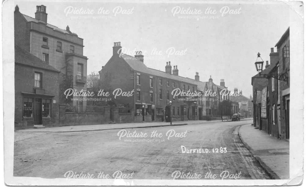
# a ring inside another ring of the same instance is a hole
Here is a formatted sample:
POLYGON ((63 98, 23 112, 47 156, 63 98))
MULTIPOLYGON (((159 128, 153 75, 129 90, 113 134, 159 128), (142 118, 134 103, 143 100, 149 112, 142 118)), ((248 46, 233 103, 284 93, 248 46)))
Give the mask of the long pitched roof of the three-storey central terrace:
POLYGON ((194 84, 195 80, 193 80, 193 79, 185 78, 185 77, 177 76, 177 75, 171 75, 171 74, 163 72, 163 71, 148 68, 142 61, 140 61, 139 59, 137 59, 133 56, 126 55, 126 54, 121 54, 121 58, 135 71, 151 74, 151 75, 154 75, 154 76, 160 76, 160 77, 164 77, 164 78, 168 78, 168 79, 172 79, 172 80, 178 80, 178 81, 182 81, 182 82, 185 82, 185 83, 194 84))

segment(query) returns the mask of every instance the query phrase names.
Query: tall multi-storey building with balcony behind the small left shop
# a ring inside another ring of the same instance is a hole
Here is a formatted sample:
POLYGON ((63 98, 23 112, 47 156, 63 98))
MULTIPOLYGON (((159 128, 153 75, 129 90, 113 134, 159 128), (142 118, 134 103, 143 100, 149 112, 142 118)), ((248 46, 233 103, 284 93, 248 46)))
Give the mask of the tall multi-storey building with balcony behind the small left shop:
MULTIPOLYGON (((87 57, 83 55, 83 39, 71 32, 68 25, 64 30, 47 23, 46 6, 36 6, 35 18, 20 13, 16 6, 14 30, 15 44, 61 72, 61 102, 65 101, 64 88, 86 91, 87 57)), ((69 104, 78 111, 86 107, 82 101, 69 104)))

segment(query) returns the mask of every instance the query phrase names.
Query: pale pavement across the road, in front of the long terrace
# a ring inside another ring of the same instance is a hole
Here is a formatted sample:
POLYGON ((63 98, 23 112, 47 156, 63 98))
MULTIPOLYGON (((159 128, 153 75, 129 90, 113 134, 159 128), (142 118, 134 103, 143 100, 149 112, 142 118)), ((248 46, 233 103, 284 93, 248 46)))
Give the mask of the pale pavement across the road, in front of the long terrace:
MULTIPOLYGON (((174 121, 172 126, 177 125, 193 125, 201 123, 220 122, 221 120, 192 120, 192 121, 174 121), (188 122, 188 124, 187 124, 188 122)), ((42 129, 19 129, 15 132, 81 132, 81 131, 102 131, 110 129, 127 129, 127 128, 147 128, 147 127, 162 127, 171 126, 170 122, 143 122, 143 123, 121 123, 121 124, 99 124, 99 125, 70 125, 61 127, 47 127, 42 129)))

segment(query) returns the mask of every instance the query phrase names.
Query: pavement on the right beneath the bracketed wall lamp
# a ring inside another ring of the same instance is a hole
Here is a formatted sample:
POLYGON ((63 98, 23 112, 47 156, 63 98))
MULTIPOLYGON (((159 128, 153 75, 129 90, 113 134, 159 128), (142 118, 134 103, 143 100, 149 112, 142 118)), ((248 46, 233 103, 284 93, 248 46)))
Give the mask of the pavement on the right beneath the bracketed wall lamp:
POLYGON ((289 142, 276 139, 251 124, 242 125, 239 136, 271 179, 289 179, 289 142))

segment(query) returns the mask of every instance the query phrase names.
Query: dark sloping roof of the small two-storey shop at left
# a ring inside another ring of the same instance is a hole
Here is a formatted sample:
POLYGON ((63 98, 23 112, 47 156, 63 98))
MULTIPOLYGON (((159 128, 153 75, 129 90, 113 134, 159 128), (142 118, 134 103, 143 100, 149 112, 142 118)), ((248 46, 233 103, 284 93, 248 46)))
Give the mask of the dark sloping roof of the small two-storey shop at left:
POLYGON ((17 45, 15 45, 15 63, 59 72, 57 69, 47 64, 45 61, 39 59, 38 57, 17 45))

